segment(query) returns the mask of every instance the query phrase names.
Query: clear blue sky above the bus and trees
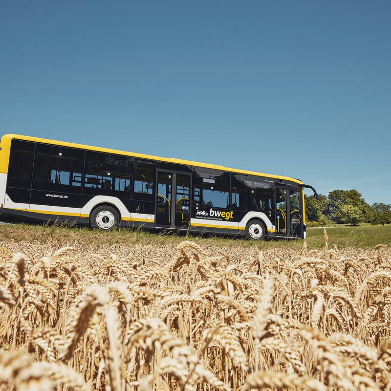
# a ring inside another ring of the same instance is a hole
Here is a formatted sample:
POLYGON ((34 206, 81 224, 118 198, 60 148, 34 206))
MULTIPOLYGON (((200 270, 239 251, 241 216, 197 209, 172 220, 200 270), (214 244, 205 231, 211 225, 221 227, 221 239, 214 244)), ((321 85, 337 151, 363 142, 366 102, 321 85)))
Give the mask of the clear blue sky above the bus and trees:
POLYGON ((0 130, 391 203, 390 1, 1 1, 0 130))

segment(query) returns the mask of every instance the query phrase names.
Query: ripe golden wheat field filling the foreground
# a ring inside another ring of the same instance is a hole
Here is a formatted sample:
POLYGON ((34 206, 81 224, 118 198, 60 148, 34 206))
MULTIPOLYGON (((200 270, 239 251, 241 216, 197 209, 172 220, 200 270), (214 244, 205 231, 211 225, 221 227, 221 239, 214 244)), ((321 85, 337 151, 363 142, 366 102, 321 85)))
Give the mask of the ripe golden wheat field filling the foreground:
POLYGON ((390 390, 391 251, 2 240, 1 390, 390 390))

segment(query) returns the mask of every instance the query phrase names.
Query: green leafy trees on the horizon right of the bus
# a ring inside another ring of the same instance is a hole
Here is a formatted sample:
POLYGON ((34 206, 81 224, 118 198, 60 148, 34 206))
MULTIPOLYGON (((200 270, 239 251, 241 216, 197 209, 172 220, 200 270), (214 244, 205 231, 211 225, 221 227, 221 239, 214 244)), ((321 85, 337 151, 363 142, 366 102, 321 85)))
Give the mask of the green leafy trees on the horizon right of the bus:
POLYGON ((304 198, 308 226, 391 223, 391 204, 375 202, 369 205, 357 190, 333 190, 328 195, 318 195, 317 199, 313 195, 304 195, 304 198))

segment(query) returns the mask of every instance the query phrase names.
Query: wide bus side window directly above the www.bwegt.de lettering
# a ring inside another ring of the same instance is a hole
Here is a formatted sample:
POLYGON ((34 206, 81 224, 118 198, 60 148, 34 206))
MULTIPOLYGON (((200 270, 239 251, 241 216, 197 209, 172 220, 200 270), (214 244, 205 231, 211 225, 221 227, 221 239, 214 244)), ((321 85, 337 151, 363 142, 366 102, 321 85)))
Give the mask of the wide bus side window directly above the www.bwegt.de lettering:
POLYGON ((33 189, 80 194, 83 161, 82 150, 37 143, 33 189))

